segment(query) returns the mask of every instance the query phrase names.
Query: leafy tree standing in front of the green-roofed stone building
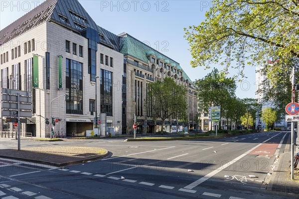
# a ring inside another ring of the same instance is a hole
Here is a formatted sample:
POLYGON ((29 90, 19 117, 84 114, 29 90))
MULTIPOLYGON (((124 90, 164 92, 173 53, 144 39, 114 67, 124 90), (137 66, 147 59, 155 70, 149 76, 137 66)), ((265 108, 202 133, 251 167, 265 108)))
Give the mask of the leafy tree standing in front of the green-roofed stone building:
MULTIPOLYGON (((167 118, 186 119, 187 90, 176 85, 172 78, 166 77, 163 82, 150 83, 145 106, 152 111, 152 116, 161 118, 162 126, 167 118)), ((170 122, 171 123, 171 122, 170 122)))

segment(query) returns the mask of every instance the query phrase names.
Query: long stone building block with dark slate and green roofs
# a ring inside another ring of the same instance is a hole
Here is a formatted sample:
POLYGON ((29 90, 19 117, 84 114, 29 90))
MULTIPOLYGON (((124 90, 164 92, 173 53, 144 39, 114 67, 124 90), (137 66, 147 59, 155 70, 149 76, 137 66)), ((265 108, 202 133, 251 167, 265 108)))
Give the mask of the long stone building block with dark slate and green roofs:
MULTIPOLYGON (((0 58, 0 87, 32 95, 23 134, 130 133, 134 114, 140 133, 154 132, 159 123, 144 107, 146 87, 166 76, 188 88, 189 122, 181 126, 195 126, 195 90, 180 65, 126 33, 98 26, 77 0, 46 0, 3 28, 0 58)), ((0 116, 1 131, 11 131, 0 116)))

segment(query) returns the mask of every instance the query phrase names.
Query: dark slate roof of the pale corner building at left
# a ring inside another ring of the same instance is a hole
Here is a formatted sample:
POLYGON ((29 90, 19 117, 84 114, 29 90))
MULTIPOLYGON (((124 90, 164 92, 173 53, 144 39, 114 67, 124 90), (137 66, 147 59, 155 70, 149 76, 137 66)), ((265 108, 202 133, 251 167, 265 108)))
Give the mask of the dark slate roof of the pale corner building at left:
POLYGON ((83 29, 90 27, 100 34, 100 43, 119 49, 115 36, 99 27, 90 17, 78 0, 46 0, 4 29, 0 31, 0 45, 27 32, 37 25, 53 21, 80 34, 83 29))

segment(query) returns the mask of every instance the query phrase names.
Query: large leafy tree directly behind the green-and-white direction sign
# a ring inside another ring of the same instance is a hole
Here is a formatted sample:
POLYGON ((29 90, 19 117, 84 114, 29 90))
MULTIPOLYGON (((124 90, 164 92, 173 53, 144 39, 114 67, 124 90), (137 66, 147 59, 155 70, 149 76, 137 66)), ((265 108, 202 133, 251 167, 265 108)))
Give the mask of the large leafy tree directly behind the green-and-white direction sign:
POLYGON ((210 106, 221 106, 221 118, 235 96, 236 83, 233 78, 221 78, 219 71, 213 69, 203 79, 196 81, 195 88, 199 109, 208 112, 210 106))

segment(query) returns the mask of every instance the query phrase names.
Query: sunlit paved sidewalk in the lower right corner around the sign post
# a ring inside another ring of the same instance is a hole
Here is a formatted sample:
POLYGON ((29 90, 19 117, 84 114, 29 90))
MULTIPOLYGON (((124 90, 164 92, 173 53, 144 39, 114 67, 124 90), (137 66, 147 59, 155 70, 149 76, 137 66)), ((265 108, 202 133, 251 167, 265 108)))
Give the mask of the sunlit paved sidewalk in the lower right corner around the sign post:
POLYGON ((290 159, 291 152, 279 156, 267 190, 299 195, 299 169, 294 170, 294 180, 291 180, 290 159))

